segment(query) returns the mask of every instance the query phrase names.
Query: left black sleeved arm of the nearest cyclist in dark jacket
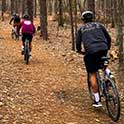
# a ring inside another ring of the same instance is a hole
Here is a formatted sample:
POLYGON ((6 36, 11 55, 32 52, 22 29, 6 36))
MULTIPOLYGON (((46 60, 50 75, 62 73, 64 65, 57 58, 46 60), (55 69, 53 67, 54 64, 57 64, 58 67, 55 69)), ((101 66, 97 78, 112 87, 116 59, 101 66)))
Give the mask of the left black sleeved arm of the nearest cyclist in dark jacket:
POLYGON ((77 32, 76 32, 76 50, 77 52, 81 52, 81 29, 79 29, 77 32))

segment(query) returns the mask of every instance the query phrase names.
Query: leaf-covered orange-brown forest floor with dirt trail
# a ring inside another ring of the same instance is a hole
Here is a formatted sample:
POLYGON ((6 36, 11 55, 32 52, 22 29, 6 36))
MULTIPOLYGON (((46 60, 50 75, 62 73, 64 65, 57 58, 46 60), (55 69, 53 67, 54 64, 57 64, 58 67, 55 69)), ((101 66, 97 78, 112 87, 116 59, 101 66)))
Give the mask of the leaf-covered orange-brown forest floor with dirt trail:
MULTIPOLYGON (((70 28, 60 28, 57 35, 56 22, 49 21, 48 26, 49 40, 35 34, 32 58, 26 65, 21 40, 11 39, 8 21, 0 22, 0 124, 115 124, 104 106, 91 105, 82 55, 71 50, 70 28)), ((117 65, 116 60, 110 68, 118 79, 117 65)), ((117 123, 124 124, 120 83, 117 123)))

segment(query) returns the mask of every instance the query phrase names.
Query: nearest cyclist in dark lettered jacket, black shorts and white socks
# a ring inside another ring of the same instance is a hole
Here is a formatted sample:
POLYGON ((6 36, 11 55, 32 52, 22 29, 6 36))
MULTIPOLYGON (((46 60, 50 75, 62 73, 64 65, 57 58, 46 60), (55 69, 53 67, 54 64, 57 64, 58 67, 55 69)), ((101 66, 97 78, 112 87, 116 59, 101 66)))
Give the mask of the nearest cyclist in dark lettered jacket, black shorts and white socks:
POLYGON ((93 22, 93 16, 92 11, 82 13, 81 19, 84 25, 76 33, 76 49, 77 52, 81 53, 81 44, 83 43, 85 50, 84 62, 95 98, 93 106, 99 107, 102 104, 98 93, 96 72, 100 68, 101 56, 106 56, 111 47, 111 37, 102 24, 93 22))

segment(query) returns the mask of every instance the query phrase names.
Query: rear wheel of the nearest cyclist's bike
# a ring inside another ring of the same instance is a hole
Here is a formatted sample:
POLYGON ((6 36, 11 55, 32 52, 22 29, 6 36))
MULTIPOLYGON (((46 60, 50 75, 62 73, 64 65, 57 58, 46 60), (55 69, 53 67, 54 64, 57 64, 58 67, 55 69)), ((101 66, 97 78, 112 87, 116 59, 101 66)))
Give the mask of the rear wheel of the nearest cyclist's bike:
POLYGON ((113 121, 118 121, 120 117, 120 98, 114 79, 107 80, 106 87, 106 107, 109 116, 113 121))

